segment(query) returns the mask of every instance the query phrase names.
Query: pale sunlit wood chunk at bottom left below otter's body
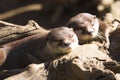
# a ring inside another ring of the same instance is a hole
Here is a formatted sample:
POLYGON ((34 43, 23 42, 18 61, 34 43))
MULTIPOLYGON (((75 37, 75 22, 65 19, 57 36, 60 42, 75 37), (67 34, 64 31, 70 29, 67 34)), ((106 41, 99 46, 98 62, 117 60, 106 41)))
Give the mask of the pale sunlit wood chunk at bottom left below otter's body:
POLYGON ((16 69, 14 71, 13 70, 6 71, 4 76, 1 76, 0 79, 4 79, 5 77, 8 77, 8 75, 13 75, 15 73, 17 73, 17 75, 13 77, 9 77, 8 80, 47 80, 48 71, 47 69, 45 69, 44 63, 30 64, 25 69, 16 69), (20 71, 22 72, 20 73, 20 71))

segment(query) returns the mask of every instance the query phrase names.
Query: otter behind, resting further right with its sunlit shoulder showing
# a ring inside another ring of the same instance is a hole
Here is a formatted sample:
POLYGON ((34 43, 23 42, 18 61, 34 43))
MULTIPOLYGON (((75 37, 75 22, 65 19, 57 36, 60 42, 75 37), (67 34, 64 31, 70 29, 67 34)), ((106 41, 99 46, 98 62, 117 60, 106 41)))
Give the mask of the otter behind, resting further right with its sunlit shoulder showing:
POLYGON ((109 47, 109 33, 112 31, 112 27, 95 15, 80 13, 72 17, 66 25, 74 29, 80 44, 98 40, 104 42, 106 48, 109 47))

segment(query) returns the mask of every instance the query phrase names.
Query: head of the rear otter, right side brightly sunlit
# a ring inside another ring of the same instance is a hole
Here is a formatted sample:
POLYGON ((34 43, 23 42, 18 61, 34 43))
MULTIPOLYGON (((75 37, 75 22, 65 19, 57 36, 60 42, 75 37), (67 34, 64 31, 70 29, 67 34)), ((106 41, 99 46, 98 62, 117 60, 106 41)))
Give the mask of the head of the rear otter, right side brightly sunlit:
POLYGON ((72 27, 80 41, 93 39, 99 30, 99 21, 96 16, 89 13, 80 13, 71 18, 68 27, 72 27))

